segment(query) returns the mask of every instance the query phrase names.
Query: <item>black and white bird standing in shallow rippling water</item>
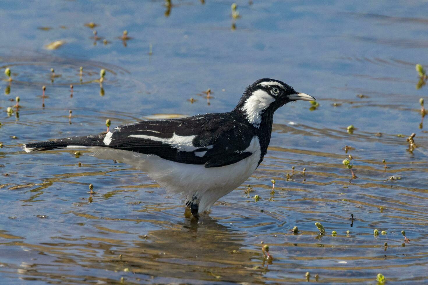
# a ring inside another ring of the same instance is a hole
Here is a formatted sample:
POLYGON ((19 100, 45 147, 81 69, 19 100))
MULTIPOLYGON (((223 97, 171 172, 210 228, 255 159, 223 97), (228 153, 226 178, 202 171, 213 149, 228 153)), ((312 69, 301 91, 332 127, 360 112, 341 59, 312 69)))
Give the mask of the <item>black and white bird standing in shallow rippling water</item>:
POLYGON ((180 194, 199 217, 253 174, 268 149, 273 112, 296 100, 315 98, 263 78, 247 87, 231 112, 129 123, 103 135, 25 144, 24 150, 84 148, 98 158, 128 163, 180 194))

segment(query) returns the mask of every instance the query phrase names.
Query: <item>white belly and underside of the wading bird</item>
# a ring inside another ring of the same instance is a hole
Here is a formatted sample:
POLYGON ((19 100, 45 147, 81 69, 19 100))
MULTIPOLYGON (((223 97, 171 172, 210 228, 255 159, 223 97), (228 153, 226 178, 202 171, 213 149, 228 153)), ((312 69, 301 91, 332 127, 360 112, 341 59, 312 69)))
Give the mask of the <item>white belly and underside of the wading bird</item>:
POLYGON ((91 147, 90 150, 98 158, 116 159, 147 172, 171 194, 180 194, 186 200, 196 196, 199 213, 207 211, 218 199, 244 183, 256 170, 261 154, 257 139, 251 156, 232 165, 206 168, 127 150, 107 147, 91 147))

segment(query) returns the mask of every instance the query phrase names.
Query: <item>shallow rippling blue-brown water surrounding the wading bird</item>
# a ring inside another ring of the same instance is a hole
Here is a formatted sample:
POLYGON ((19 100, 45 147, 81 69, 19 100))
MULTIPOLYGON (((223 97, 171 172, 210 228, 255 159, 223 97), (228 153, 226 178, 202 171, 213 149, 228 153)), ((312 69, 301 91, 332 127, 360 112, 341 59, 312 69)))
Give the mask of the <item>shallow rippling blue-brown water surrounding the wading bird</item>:
POLYGON ((428 100, 428 87, 415 88, 414 68, 428 65, 426 4, 253 2, 237 2, 235 30, 223 0, 173 0, 169 15, 163 1, 0 3, 0 76, 10 67, 14 79, 0 82, 3 282, 297 283, 308 271, 311 282, 318 274, 318 282, 374 284, 377 273, 391 283, 427 282, 428 135, 418 100, 428 100), (91 21, 107 45, 94 45, 84 26, 91 21), (118 39, 125 29, 126 47, 118 39), (57 40, 66 43, 44 48, 57 40), (51 68, 60 75, 53 82, 51 68), (91 82, 101 68, 104 91, 91 82), (226 112, 263 77, 320 106, 279 109, 262 165, 199 223, 183 201, 128 165, 85 152, 21 150, 30 141, 103 132, 106 119, 117 126, 226 112), (208 88, 209 105, 198 95, 208 88), (19 117, 8 117, 16 96, 19 117), (410 152, 412 132, 418 147, 410 152), (342 165, 349 154, 357 179, 342 165))

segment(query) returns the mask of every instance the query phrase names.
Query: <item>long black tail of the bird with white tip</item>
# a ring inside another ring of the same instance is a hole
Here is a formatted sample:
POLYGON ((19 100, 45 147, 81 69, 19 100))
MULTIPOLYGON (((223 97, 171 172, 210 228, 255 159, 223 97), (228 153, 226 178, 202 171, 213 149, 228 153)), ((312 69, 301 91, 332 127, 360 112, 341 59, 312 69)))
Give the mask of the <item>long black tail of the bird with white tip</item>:
POLYGON ((104 144, 106 135, 88 135, 86 137, 57 138, 53 141, 42 141, 37 143, 24 144, 23 148, 27 153, 41 150, 54 150, 57 148, 88 148, 107 147, 104 144))

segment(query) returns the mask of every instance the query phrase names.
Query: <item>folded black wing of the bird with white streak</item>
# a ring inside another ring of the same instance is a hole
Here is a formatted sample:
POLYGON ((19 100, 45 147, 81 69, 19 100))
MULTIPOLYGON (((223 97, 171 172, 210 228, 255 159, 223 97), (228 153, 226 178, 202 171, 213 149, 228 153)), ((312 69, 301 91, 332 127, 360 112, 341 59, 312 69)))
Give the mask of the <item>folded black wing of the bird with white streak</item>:
POLYGON ((254 147, 249 150, 253 138, 252 126, 222 113, 118 126, 107 133, 104 144, 174 162, 220 167, 253 154, 254 147))

